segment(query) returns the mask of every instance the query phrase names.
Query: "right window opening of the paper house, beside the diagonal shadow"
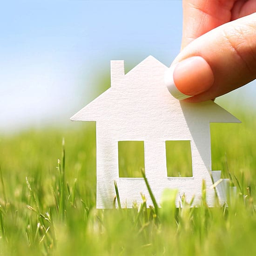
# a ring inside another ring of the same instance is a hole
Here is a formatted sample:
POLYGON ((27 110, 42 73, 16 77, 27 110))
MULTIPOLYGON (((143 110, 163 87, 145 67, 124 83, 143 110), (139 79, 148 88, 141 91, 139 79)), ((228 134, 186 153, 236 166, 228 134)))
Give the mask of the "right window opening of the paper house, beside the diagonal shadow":
POLYGON ((165 141, 168 177, 192 177, 190 141, 165 141))

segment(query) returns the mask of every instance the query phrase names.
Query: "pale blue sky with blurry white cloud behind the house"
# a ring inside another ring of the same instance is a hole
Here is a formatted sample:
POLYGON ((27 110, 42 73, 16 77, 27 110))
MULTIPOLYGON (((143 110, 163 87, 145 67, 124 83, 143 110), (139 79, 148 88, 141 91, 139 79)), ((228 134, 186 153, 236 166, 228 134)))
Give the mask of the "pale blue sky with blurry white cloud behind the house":
MULTIPOLYGON (((153 55, 169 66, 181 38, 180 0, 2 1, 0 131, 69 122, 110 60, 131 67, 153 55)), ((253 102, 254 88, 227 97, 253 102)))

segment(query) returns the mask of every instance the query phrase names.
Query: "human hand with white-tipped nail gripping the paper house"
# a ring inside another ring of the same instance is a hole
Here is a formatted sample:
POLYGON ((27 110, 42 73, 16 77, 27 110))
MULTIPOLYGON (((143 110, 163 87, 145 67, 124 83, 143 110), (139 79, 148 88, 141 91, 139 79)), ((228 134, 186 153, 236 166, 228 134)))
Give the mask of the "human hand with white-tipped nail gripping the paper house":
POLYGON ((177 98, 207 101, 256 79, 255 12, 256 0, 183 0, 182 51, 167 73, 170 92, 175 86, 177 98))

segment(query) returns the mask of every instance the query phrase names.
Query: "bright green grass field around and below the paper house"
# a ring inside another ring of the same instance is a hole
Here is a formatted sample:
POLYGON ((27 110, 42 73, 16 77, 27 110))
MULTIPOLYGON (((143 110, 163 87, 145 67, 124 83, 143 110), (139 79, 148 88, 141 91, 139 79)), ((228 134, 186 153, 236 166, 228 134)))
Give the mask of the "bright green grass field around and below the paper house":
POLYGON ((176 209, 166 190, 161 209, 143 195, 134 209, 95 209, 94 123, 0 136, 0 255, 256 255, 256 118, 238 118, 211 124, 212 169, 237 186, 229 208, 203 196, 176 209))

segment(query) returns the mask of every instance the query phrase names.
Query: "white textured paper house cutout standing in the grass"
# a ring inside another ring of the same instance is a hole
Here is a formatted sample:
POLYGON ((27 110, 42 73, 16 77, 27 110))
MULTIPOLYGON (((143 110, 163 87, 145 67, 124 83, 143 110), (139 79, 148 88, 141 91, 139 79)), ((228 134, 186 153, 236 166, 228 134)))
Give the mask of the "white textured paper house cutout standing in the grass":
MULTIPOLYGON (((221 171, 211 171, 210 122, 240 122, 213 101, 178 101, 164 83, 168 67, 149 56, 124 74, 124 61, 111 61, 111 88, 76 113, 72 121, 96 121, 97 208, 112 208, 117 182, 122 207, 141 202, 143 193, 152 204, 143 178, 121 178, 118 141, 144 141, 145 174, 160 204, 165 188, 178 189, 187 201, 200 203, 202 180, 207 202, 226 200, 227 180, 210 188, 221 171), (168 177, 165 141, 190 141, 193 177, 168 177)), ((176 206, 180 196, 177 196, 176 206)))

